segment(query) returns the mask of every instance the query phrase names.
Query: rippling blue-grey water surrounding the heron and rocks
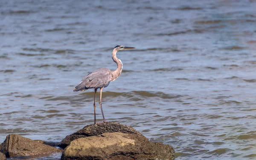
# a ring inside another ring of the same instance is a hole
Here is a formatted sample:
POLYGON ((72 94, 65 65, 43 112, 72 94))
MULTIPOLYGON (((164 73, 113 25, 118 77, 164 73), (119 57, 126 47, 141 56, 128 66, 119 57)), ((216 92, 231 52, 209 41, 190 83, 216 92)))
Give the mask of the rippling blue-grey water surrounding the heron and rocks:
POLYGON ((177 160, 254 160, 255 8, 253 0, 2 0, 0 141, 14 133, 61 141, 92 124, 93 90, 73 88, 91 71, 116 69, 111 53, 121 44, 137 49, 117 53, 123 72, 102 95, 108 121, 173 146, 177 160))

